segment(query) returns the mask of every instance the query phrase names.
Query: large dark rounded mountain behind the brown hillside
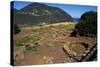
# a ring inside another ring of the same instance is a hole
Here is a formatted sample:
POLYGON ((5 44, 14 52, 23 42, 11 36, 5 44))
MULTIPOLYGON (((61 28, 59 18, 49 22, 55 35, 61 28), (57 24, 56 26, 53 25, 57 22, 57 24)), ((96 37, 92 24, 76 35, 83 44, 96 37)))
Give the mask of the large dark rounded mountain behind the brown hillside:
POLYGON ((40 3, 32 3, 20 10, 14 11, 14 23, 18 25, 73 21, 73 18, 60 8, 40 3))

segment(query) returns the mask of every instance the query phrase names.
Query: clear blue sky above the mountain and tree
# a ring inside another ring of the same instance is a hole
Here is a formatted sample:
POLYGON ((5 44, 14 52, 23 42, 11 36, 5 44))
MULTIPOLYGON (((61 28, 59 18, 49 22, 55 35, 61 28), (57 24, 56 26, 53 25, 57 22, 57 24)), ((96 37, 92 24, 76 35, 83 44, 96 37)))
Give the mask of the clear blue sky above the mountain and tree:
MULTIPOLYGON (((20 10, 23 7, 34 3, 34 2, 24 2, 24 1, 14 1, 14 8, 20 10)), ((73 18, 80 18, 81 15, 87 11, 97 11, 96 6, 88 6, 88 5, 72 5, 72 4, 54 4, 54 3, 44 3, 48 6, 58 7, 68 14, 70 14, 73 18)))

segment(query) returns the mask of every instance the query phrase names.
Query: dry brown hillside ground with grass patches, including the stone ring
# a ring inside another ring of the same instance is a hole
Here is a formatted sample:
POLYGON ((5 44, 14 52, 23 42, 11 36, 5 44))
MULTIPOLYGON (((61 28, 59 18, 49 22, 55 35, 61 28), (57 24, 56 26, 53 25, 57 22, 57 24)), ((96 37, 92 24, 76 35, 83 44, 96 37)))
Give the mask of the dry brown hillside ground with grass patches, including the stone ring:
POLYGON ((75 23, 56 23, 21 28, 21 32, 14 35, 14 64, 77 62, 87 48, 96 44, 96 37, 70 37, 74 26, 75 23), (81 42, 86 43, 88 47, 82 46, 81 42), (63 48, 68 53, 65 53, 63 48))

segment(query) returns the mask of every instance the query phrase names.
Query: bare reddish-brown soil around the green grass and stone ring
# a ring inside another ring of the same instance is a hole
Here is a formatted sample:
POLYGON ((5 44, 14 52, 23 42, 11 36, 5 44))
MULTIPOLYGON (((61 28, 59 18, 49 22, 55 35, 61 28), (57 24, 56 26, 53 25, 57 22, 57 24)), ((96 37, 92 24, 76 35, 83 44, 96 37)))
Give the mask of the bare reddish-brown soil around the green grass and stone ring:
MULTIPOLYGON (((69 58, 69 56, 63 51, 64 45, 67 45, 68 42, 88 43, 90 48, 96 43, 96 37, 86 37, 86 36, 69 37, 71 33, 71 31, 69 30, 72 29, 73 27, 67 27, 66 29, 58 28, 58 31, 55 33, 55 30, 57 29, 52 28, 52 30, 54 31, 53 33, 55 34, 49 34, 50 31, 47 31, 47 33, 40 34, 40 39, 37 41, 39 46, 33 48, 32 50, 25 50, 25 47, 16 46, 16 44, 14 44, 15 45, 14 64, 33 65, 33 64, 64 63, 65 59, 69 58), (59 29, 61 29, 61 31, 59 29), (65 30, 69 32, 66 33, 65 30), (20 49, 22 49, 22 51, 20 51, 20 49), (23 58, 19 58, 18 55, 19 57, 21 57, 22 55, 23 58)), ((31 28, 21 29, 21 32, 19 34, 14 35, 14 40, 21 40, 23 37, 27 35, 31 35, 34 39, 35 34, 36 33, 31 28)), ((28 43, 31 43, 31 41, 32 40, 28 40, 28 43)), ((66 62, 74 62, 74 61, 67 60, 66 62)))

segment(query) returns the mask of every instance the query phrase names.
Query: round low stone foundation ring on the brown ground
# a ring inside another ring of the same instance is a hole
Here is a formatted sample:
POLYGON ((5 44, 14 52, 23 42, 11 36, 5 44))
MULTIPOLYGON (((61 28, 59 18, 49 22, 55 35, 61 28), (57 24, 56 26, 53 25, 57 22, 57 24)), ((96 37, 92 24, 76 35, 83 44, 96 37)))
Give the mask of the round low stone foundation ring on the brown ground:
POLYGON ((71 42, 64 45, 64 50, 66 50, 67 54, 70 57, 79 60, 81 59, 81 56, 86 48, 84 47, 84 45, 82 45, 81 42, 71 42))

